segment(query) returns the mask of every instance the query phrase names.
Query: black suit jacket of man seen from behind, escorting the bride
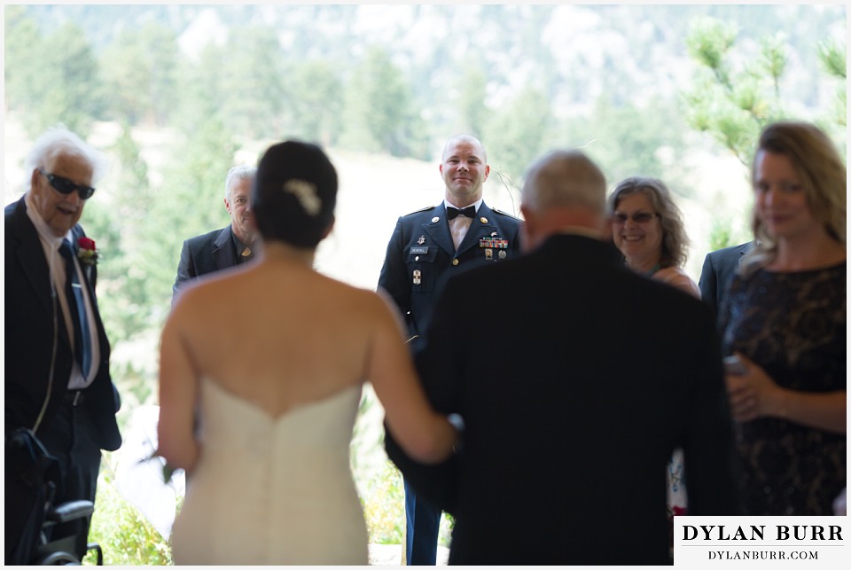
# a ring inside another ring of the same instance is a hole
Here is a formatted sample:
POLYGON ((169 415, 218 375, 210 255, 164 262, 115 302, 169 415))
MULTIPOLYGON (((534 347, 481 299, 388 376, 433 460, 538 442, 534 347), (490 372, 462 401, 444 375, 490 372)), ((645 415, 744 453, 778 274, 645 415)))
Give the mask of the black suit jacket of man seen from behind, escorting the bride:
POLYGON ((668 563, 668 460, 689 511, 735 514, 730 416, 709 308, 575 235, 449 279, 418 355, 448 462, 389 457, 455 515, 450 564, 668 563), (462 311, 472 315, 458 318, 462 311))

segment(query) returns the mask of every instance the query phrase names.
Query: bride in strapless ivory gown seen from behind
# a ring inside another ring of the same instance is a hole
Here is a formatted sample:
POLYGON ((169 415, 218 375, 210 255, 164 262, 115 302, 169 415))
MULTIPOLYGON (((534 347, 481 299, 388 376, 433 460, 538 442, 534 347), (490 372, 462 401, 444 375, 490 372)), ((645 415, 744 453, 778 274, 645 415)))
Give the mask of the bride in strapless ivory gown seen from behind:
POLYGON ((396 309, 313 269, 336 192, 318 146, 271 146, 252 193, 260 254, 187 287, 163 328, 160 455, 187 472, 177 564, 368 564, 348 460, 364 381, 412 457, 451 454, 396 309))

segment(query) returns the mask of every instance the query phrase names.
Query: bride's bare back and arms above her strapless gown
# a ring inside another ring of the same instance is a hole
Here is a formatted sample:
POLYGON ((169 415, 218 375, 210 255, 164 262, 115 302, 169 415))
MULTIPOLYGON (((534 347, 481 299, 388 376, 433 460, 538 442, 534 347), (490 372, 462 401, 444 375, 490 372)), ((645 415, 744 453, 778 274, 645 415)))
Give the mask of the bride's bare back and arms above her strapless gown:
POLYGON ((428 406, 400 317, 378 293, 316 273, 310 259, 272 244, 258 262, 181 294, 160 347, 160 453, 170 463, 197 460, 202 378, 273 417, 368 380, 413 455, 446 457, 454 433, 428 406))

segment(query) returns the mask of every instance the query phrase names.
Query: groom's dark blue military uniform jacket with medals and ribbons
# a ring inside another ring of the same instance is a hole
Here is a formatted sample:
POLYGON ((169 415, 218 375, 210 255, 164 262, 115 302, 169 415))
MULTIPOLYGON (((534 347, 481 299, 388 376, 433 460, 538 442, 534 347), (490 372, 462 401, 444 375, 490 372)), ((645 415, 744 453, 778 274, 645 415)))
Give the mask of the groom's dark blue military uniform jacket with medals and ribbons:
MULTIPOLYGON (((421 337, 426 331, 433 293, 441 280, 517 256, 519 228, 518 218, 491 209, 482 201, 456 253, 442 202, 402 215, 387 244, 379 287, 390 293, 402 311, 409 336, 421 337), (490 238, 505 241, 481 241, 490 238)), ((415 342, 414 346, 421 345, 415 342)))

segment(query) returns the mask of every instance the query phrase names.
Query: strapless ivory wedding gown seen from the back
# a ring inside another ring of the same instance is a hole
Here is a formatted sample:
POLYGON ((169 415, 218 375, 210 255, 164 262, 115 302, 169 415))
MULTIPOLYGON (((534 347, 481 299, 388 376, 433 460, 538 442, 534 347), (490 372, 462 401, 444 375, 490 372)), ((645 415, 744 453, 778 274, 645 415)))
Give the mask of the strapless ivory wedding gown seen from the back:
POLYGON ((368 565, 349 467, 360 398, 357 385, 276 418, 202 380, 202 451, 175 521, 175 563, 368 565))

